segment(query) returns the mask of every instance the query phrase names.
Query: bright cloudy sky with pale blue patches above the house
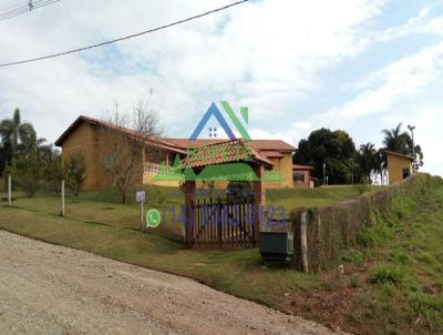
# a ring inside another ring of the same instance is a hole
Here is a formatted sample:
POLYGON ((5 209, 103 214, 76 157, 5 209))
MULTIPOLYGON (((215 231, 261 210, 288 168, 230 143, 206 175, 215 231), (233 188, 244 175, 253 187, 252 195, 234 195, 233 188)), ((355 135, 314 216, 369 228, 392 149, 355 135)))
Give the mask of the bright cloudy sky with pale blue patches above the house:
MULTIPOLYGON (((25 0, 0 0, 0 10, 25 0)), ((84 47, 234 0, 61 0, 0 21, 0 63, 84 47)), ((213 101, 248 106, 253 139, 297 146, 312 130, 381 145, 416 126, 423 171, 443 175, 443 0, 255 0, 104 48, 0 68, 0 119, 20 108, 54 142, 80 115, 151 99, 188 138, 213 101), (150 92, 152 90, 152 94, 150 92)))

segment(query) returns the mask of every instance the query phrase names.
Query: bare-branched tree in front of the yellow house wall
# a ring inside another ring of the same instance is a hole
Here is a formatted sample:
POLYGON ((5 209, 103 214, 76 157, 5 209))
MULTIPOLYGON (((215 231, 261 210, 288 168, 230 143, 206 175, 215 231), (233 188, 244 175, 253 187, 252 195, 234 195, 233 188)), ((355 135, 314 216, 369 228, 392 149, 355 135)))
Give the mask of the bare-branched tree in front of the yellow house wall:
POLYGON ((113 115, 99 128, 100 162, 123 203, 127 202, 131 186, 141 182, 145 152, 150 159, 159 158, 162 151, 155 142, 162 133, 158 115, 145 101, 140 101, 132 113, 115 104, 113 115))

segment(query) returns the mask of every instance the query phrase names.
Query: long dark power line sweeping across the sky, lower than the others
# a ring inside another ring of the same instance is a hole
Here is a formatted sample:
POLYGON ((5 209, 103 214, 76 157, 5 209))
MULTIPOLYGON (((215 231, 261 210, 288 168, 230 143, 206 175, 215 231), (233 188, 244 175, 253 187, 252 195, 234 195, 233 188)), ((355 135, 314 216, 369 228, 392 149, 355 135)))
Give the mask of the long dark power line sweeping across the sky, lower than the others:
POLYGON ((80 51, 85 51, 85 50, 90 50, 90 49, 94 49, 94 48, 107 45, 107 44, 111 44, 111 43, 115 43, 115 42, 120 42, 120 41, 133 39, 133 38, 141 37, 141 35, 144 35, 144 34, 151 33, 151 32, 155 32, 155 31, 163 30, 163 29, 166 29, 166 28, 171 28, 171 27, 174 27, 174 26, 177 26, 177 24, 182 24, 182 23, 185 23, 185 22, 189 22, 189 21, 193 21, 193 20, 195 20, 195 19, 199 19, 199 18, 203 18, 203 17, 213 14, 213 13, 215 13, 215 12, 219 12, 219 11, 226 10, 226 9, 228 9, 228 8, 230 8, 230 7, 234 7, 234 6, 238 6, 238 4, 248 2, 248 1, 249 1, 249 0, 237 1, 237 2, 227 4, 227 6, 224 6, 224 7, 219 7, 219 8, 216 8, 216 9, 209 10, 209 11, 206 11, 206 12, 204 12, 204 13, 200 13, 200 14, 197 14, 197 16, 194 16, 194 17, 190 17, 190 18, 187 18, 187 19, 183 19, 183 20, 179 20, 179 21, 175 21, 175 22, 172 22, 172 23, 167 23, 167 24, 164 24, 164 26, 161 26, 161 27, 157 27, 157 28, 153 28, 153 29, 150 29, 150 30, 142 31, 142 32, 133 33, 133 34, 130 34, 130 35, 126 35, 126 37, 123 37, 123 38, 117 38, 117 39, 114 39, 114 40, 101 42, 101 43, 97 43, 97 44, 92 44, 92 45, 89 45, 89 47, 72 49, 72 50, 68 50, 68 51, 63 51, 63 52, 59 52, 59 53, 53 53, 53 54, 49 54, 49 55, 42 55, 42 57, 38 57, 38 58, 31 58, 31 59, 21 60, 21 61, 14 61, 14 62, 9 62, 9 63, 2 63, 2 64, 0 64, 0 68, 6 68, 6 67, 12 67, 12 65, 19 65, 19 64, 24 64, 24 63, 37 62, 37 61, 41 61, 41 60, 45 60, 45 59, 51 59, 51 58, 56 58, 56 57, 61 57, 61 55, 66 55, 66 54, 70 54, 70 53, 80 52, 80 51))

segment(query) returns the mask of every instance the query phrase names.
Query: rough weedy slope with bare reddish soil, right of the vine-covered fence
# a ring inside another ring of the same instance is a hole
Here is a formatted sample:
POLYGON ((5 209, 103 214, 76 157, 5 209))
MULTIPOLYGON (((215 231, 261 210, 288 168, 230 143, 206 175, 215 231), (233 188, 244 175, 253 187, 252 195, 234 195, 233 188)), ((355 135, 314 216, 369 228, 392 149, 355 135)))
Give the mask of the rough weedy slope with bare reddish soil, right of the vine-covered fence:
POLYGON ((356 334, 443 334, 443 187, 396 202, 287 311, 356 334))

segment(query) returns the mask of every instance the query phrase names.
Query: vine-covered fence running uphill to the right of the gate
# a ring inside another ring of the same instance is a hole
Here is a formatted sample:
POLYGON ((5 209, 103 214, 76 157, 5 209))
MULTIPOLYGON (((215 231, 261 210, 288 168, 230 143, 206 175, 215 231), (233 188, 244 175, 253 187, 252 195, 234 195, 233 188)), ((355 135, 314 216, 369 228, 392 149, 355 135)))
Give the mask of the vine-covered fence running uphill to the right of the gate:
POLYGON ((305 272, 330 268, 340 261, 341 251, 356 244, 358 232, 374 224, 378 215, 385 214, 394 200, 415 199, 441 183, 440 177, 419 173, 356 200, 322 209, 292 211, 295 266, 305 272))

